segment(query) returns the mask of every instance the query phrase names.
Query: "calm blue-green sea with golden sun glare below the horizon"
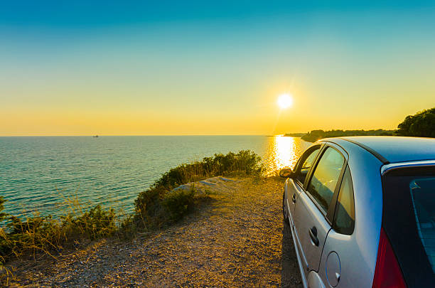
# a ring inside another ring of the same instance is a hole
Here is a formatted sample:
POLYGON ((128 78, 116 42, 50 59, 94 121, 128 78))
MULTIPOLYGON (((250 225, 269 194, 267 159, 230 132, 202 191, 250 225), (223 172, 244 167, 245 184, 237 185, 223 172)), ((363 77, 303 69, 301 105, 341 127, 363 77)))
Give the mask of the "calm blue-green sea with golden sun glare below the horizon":
POLYGON ((6 213, 60 215, 71 197, 129 213, 137 193, 178 164, 250 149, 272 174, 309 145, 264 136, 0 137, 0 196, 6 213))

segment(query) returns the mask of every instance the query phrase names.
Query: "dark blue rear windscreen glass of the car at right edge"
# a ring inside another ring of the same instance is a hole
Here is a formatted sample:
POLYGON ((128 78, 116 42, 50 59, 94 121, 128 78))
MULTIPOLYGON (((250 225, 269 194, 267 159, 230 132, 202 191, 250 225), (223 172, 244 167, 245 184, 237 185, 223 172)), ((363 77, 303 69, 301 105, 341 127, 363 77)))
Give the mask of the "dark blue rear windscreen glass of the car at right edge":
POLYGON ((409 190, 419 238, 435 272, 435 178, 414 178, 409 190))

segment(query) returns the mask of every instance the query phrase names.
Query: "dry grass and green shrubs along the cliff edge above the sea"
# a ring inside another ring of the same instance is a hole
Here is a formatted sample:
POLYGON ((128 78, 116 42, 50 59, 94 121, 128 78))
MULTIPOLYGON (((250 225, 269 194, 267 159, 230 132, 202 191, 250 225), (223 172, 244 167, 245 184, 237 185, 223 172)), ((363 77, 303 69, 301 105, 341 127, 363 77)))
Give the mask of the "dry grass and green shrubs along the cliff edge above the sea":
POLYGON ((138 231, 171 225, 204 198, 195 193, 194 186, 188 191, 171 191, 173 188, 211 176, 261 174, 263 167, 260 161, 257 154, 248 150, 237 154, 215 154, 202 161, 181 164, 163 174, 151 188, 139 193, 134 202, 135 213, 124 217, 115 213, 114 209, 100 205, 85 211, 76 198, 71 198, 67 199, 68 211, 58 219, 35 213, 22 220, 2 212, 5 200, 0 196, 0 278, 2 274, 9 275, 4 263, 11 257, 38 257, 41 254, 56 257, 83 240, 112 236, 131 238, 138 231))

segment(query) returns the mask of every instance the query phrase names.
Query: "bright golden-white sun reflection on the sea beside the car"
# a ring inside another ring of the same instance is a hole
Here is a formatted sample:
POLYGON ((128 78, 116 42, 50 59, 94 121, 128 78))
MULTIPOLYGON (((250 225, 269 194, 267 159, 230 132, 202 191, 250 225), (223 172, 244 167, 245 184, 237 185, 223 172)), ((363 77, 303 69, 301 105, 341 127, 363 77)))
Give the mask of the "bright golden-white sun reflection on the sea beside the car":
POLYGON ((271 176, 283 168, 294 168, 302 152, 311 143, 294 137, 269 137, 267 151, 264 155, 266 174, 271 176))

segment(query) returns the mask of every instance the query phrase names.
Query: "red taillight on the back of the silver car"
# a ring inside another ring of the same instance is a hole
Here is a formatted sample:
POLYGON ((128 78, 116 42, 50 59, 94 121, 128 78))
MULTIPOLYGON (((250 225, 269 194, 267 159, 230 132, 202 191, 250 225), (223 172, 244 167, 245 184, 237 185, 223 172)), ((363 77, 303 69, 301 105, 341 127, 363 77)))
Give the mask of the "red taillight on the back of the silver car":
POLYGON ((381 228, 379 247, 377 249, 377 260, 375 277, 372 288, 406 288, 402 271, 392 250, 390 241, 381 228))

